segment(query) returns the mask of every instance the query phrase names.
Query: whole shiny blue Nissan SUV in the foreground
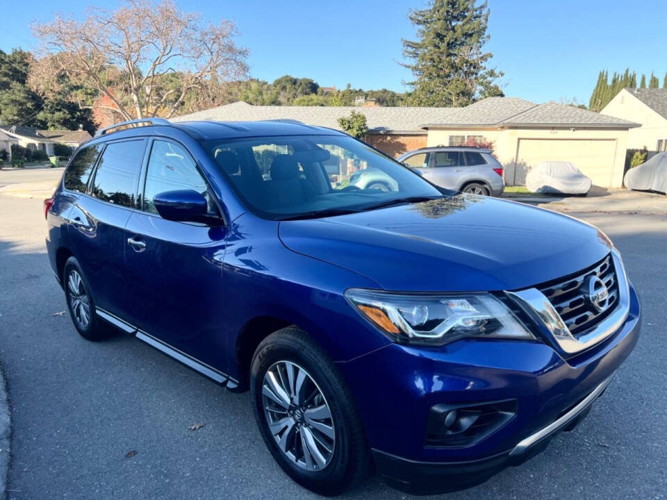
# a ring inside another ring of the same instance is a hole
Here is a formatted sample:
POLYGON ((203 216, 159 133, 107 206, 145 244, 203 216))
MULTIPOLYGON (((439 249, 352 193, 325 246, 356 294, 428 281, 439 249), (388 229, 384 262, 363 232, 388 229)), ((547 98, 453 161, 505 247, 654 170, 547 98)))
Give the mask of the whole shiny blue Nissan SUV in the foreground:
POLYGON ((429 492, 517 465, 586 415, 639 336, 597 228, 438 188, 328 128, 103 129, 45 215, 76 330, 249 390, 274 458, 322 494, 371 468, 429 492), (370 168, 393 188, 349 183, 370 168))

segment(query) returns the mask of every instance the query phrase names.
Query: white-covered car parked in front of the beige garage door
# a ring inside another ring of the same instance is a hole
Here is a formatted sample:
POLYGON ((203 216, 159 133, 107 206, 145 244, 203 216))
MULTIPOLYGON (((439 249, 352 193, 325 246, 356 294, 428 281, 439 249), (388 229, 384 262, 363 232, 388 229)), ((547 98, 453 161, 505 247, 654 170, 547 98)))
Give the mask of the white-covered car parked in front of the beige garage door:
POLYGON ((546 161, 532 167, 526 176, 530 192, 586 194, 591 179, 574 165, 565 161, 546 161))

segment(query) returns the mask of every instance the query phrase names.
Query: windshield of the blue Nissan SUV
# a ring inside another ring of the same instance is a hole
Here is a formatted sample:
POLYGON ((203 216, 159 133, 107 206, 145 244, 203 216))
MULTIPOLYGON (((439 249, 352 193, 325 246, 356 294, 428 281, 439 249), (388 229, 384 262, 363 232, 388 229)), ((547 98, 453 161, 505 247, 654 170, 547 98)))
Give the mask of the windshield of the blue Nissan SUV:
POLYGON ((241 201, 267 219, 325 217, 442 197, 418 174, 344 135, 208 141, 241 201))

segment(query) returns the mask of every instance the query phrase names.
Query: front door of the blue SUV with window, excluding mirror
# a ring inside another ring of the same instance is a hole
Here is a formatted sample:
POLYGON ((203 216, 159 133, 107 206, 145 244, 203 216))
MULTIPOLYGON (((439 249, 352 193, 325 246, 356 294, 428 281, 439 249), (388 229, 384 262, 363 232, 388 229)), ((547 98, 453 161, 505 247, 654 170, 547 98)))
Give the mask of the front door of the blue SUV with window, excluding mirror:
POLYGON ((129 320, 154 340, 224 369, 220 288, 226 228, 222 222, 166 220, 153 205, 160 192, 195 190, 208 197, 209 214, 219 215, 213 194, 188 150, 164 138, 151 140, 140 183, 140 210, 126 224, 129 320))

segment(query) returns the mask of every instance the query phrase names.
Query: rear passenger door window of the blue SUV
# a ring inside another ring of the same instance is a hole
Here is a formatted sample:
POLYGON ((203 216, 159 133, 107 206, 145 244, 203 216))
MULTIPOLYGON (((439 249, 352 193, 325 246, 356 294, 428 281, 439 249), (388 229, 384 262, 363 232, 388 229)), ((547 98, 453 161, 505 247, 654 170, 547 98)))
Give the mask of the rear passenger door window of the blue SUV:
POLYGON ((92 195, 116 205, 133 206, 143 156, 143 140, 107 144, 97 164, 92 195))

